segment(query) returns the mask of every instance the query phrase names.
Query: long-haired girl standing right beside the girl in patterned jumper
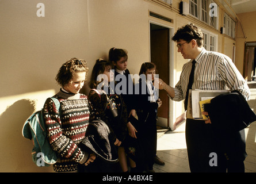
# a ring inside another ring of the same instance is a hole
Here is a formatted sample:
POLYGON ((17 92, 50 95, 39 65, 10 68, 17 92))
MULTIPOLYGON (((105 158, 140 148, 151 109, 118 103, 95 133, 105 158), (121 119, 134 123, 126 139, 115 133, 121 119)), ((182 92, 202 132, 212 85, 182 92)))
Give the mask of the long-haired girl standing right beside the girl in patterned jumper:
POLYGON ((123 162, 126 158, 124 147, 127 146, 127 107, 122 96, 114 93, 113 86, 109 84, 114 80, 111 69, 112 65, 105 60, 97 60, 93 67, 89 86, 94 90, 91 90, 88 96, 92 109, 89 121, 100 118, 108 124, 116 135, 116 140, 113 141, 118 147, 120 166, 124 172, 127 172, 127 160, 123 162))

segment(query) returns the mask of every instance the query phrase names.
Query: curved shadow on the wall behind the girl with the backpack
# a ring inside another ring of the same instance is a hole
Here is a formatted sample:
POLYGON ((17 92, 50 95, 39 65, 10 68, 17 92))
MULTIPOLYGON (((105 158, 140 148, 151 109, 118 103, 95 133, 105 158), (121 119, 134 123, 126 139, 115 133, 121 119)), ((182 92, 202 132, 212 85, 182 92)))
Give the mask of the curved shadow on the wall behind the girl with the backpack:
POLYGON ((35 111, 35 101, 20 99, 0 116, 0 172, 51 172, 32 161, 32 141, 22 136, 26 119, 35 111))

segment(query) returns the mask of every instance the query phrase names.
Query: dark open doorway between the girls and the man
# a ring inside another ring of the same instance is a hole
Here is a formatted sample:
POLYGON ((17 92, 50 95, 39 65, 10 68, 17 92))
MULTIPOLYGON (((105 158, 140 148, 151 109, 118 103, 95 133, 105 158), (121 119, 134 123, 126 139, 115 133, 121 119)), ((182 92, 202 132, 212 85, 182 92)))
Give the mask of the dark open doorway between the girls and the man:
MULTIPOLYGON (((159 78, 170 84, 171 81, 171 29, 162 25, 150 23, 150 61, 156 64, 159 78)), ((163 128, 172 129, 172 112, 170 110, 171 102, 166 91, 159 90, 159 98, 162 100, 162 106, 158 109, 157 125, 163 128)))

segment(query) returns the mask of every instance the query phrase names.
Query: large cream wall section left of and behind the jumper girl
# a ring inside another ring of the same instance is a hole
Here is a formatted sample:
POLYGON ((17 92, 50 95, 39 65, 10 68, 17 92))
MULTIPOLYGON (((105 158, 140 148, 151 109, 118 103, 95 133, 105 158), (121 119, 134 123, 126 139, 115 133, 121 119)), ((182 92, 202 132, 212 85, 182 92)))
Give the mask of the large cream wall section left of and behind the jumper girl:
POLYGON ((0 1, 0 172, 51 172, 30 155, 24 121, 59 90, 55 76, 71 57, 90 60, 87 1, 0 1), (45 17, 37 17, 44 3, 45 17))

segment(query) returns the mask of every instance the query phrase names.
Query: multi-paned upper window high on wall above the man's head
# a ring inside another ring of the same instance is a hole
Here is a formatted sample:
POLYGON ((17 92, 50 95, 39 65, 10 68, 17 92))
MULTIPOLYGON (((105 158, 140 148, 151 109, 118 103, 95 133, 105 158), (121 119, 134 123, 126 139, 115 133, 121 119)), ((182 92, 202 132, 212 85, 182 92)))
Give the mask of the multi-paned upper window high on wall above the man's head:
POLYGON ((205 22, 205 24, 213 26, 217 29, 217 11, 218 7, 212 0, 190 0, 189 13, 190 15, 205 22), (214 6, 213 6, 214 5, 214 6))

